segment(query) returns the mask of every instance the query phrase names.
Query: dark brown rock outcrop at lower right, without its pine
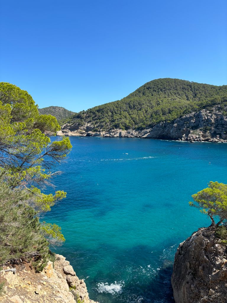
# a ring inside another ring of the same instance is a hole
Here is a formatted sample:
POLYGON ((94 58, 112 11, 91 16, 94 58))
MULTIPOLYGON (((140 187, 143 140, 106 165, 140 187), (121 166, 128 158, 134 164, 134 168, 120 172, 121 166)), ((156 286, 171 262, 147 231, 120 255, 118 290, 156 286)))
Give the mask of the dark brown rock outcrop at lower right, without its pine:
POLYGON ((176 303, 227 302, 227 249, 214 228, 200 228, 179 245, 171 282, 176 303))

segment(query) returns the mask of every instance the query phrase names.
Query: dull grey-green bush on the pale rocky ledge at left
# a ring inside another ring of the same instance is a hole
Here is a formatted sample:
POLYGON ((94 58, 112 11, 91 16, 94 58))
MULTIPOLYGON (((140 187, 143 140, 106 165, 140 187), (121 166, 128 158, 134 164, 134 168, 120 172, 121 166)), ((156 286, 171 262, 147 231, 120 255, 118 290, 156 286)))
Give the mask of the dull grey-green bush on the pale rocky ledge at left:
POLYGON ((10 188, 2 176, 0 181, 0 265, 44 258, 49 244, 41 233, 34 208, 27 203, 27 192, 10 188))

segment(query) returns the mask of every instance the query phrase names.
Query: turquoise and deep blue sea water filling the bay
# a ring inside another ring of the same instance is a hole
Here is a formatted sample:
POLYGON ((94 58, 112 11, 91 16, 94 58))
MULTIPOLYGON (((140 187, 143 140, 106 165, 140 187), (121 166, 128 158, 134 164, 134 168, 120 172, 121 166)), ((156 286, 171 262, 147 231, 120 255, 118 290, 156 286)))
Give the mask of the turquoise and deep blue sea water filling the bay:
POLYGON ((70 140, 64 173, 54 178, 67 198, 45 217, 66 238, 55 251, 85 279, 93 300, 172 303, 176 248, 210 224, 188 202, 211 180, 227 183, 227 144, 70 140))

